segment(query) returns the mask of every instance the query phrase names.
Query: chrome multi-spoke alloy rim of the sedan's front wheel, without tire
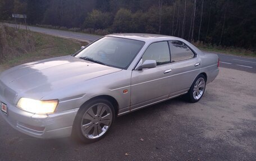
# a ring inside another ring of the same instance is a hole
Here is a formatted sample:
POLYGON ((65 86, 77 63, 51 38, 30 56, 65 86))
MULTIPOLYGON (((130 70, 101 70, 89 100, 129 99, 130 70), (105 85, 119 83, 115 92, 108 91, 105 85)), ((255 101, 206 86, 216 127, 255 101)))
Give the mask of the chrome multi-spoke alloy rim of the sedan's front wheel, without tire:
POLYGON ((81 131, 86 138, 97 139, 107 132, 112 118, 111 108, 107 104, 94 104, 84 113, 81 131))

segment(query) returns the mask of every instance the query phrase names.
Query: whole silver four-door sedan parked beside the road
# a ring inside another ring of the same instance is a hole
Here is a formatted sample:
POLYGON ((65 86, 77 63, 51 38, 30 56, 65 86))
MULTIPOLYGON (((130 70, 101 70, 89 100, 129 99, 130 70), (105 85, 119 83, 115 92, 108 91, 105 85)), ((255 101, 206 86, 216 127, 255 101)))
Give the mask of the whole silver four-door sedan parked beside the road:
POLYGON ((38 138, 93 142, 115 118, 176 96, 198 102, 218 75, 216 54, 184 39, 111 34, 72 56, 26 63, 0 75, 1 116, 38 138))

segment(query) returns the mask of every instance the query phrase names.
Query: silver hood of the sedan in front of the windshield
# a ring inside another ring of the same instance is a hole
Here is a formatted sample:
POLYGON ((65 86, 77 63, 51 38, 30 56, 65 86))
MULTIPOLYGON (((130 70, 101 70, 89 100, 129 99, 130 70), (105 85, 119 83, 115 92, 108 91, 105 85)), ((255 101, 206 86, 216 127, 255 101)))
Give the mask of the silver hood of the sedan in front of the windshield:
POLYGON ((42 99, 52 91, 117 71, 121 69, 64 56, 10 68, 1 73, 0 81, 21 96, 42 99))

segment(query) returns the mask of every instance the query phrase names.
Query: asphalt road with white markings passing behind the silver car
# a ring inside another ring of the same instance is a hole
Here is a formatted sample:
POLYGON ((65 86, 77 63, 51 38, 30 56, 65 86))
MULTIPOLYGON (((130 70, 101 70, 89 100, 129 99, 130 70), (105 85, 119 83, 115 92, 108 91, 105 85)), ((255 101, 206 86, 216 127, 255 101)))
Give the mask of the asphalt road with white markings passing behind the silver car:
MULTIPOLYGON (((8 26, 15 27, 15 24, 6 24, 8 26)), ((26 29, 24 25, 18 25, 20 29, 26 29)), ((98 35, 91 35, 91 34, 85 34, 85 33, 76 33, 71 31, 65 31, 65 30, 55 30, 55 29, 47 29, 43 27, 35 27, 35 26, 28 26, 29 30, 44 33, 44 34, 50 34, 55 36, 61 36, 64 38, 72 38, 72 39, 79 39, 79 40, 85 40, 92 42, 100 36, 98 35)), ((207 53, 207 52, 205 52, 207 53)), ((245 58, 245 57, 237 57, 237 56, 230 56, 226 54, 216 53, 218 54, 220 58, 220 66, 226 67, 226 68, 234 68, 236 70, 241 71, 247 71, 256 73, 256 59, 254 58, 245 58)))

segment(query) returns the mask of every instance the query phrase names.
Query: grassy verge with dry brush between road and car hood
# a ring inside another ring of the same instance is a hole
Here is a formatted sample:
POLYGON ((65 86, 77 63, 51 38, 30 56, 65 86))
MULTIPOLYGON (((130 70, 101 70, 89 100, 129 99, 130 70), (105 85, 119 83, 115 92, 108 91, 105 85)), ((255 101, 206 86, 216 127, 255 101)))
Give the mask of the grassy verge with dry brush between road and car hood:
POLYGON ((86 45, 85 42, 63 39, 56 36, 35 33, 33 31, 15 30, 11 27, 0 26, 0 52, 2 59, 0 66, 9 68, 22 63, 38 61, 40 59, 66 56, 75 53, 86 45), (4 31, 3 31, 4 30, 4 31), (0 33, 1 34, 1 33, 0 33))

